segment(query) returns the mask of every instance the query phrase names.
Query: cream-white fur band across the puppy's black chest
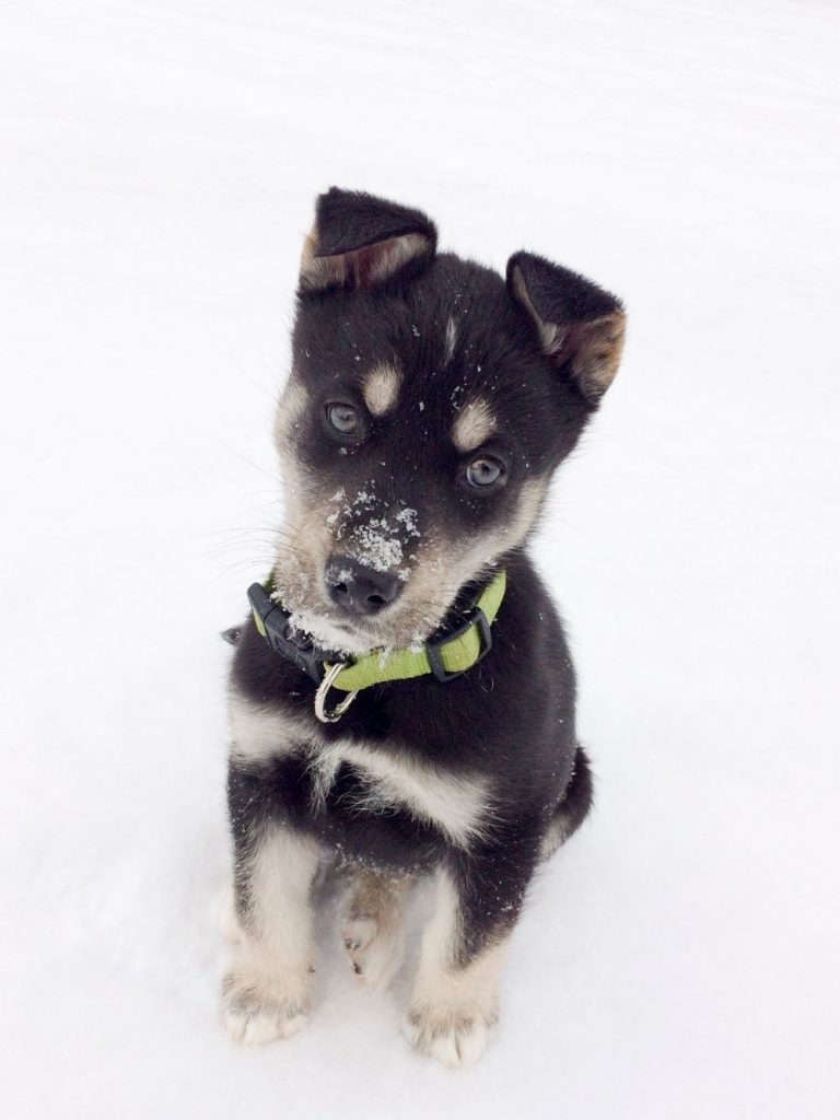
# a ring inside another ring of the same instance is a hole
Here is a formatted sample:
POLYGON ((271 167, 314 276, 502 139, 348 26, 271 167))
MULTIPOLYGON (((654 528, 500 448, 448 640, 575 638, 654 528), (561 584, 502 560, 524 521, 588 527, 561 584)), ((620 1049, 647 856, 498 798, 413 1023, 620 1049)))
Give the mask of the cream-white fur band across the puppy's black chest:
POLYGON ((314 818, 376 816, 399 811, 466 847, 484 834, 492 790, 482 775, 433 765, 395 743, 325 739, 277 710, 233 703, 233 756, 243 763, 292 759, 314 818))

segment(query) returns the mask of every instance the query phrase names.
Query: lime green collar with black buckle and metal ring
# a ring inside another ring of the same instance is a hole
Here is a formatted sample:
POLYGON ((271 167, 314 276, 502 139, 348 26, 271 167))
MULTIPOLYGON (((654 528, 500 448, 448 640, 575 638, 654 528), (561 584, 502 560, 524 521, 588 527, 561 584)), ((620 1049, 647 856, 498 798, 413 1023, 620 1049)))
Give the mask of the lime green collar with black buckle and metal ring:
POLYGON ((290 625, 289 614, 277 604, 268 587, 254 584, 249 588, 254 624, 268 644, 308 673, 318 684, 315 712, 324 722, 335 722, 349 708, 362 689, 385 681, 405 681, 413 676, 433 675, 450 681, 477 664, 493 644, 491 626, 505 595, 506 575, 496 572, 483 589, 465 622, 456 631, 402 650, 381 650, 351 661, 320 651, 311 638, 290 625), (325 708, 330 689, 347 692, 333 712, 325 708))

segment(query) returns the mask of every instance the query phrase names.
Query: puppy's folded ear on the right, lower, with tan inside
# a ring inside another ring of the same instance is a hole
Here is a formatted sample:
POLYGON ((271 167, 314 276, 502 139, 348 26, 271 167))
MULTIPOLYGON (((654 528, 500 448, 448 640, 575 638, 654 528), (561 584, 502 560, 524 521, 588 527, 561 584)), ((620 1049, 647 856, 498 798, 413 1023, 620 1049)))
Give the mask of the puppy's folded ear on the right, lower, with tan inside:
POLYGON ((507 290, 533 319, 542 348, 597 405, 618 372, 624 308, 615 296, 532 253, 507 262, 507 290))

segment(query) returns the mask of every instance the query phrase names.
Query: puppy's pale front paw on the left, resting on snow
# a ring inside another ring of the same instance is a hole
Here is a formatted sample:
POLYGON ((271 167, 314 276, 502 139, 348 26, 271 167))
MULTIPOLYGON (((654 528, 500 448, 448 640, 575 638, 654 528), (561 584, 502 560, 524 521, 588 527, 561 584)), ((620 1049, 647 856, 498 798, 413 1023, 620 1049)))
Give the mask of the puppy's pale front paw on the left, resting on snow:
POLYGON ((309 1015, 305 978, 298 982, 233 970, 222 981, 222 1010, 231 1037, 246 1046, 291 1038, 309 1015))

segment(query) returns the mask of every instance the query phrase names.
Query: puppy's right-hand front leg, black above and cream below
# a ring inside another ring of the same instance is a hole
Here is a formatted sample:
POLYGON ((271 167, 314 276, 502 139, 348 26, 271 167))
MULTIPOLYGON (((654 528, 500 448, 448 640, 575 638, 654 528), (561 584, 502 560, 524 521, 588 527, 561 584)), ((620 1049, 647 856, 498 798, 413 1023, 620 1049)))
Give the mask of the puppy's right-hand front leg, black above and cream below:
POLYGON ((513 859, 487 852, 439 871, 405 1034, 445 1065, 477 1062, 498 1018, 498 978, 535 862, 528 849, 513 859))

